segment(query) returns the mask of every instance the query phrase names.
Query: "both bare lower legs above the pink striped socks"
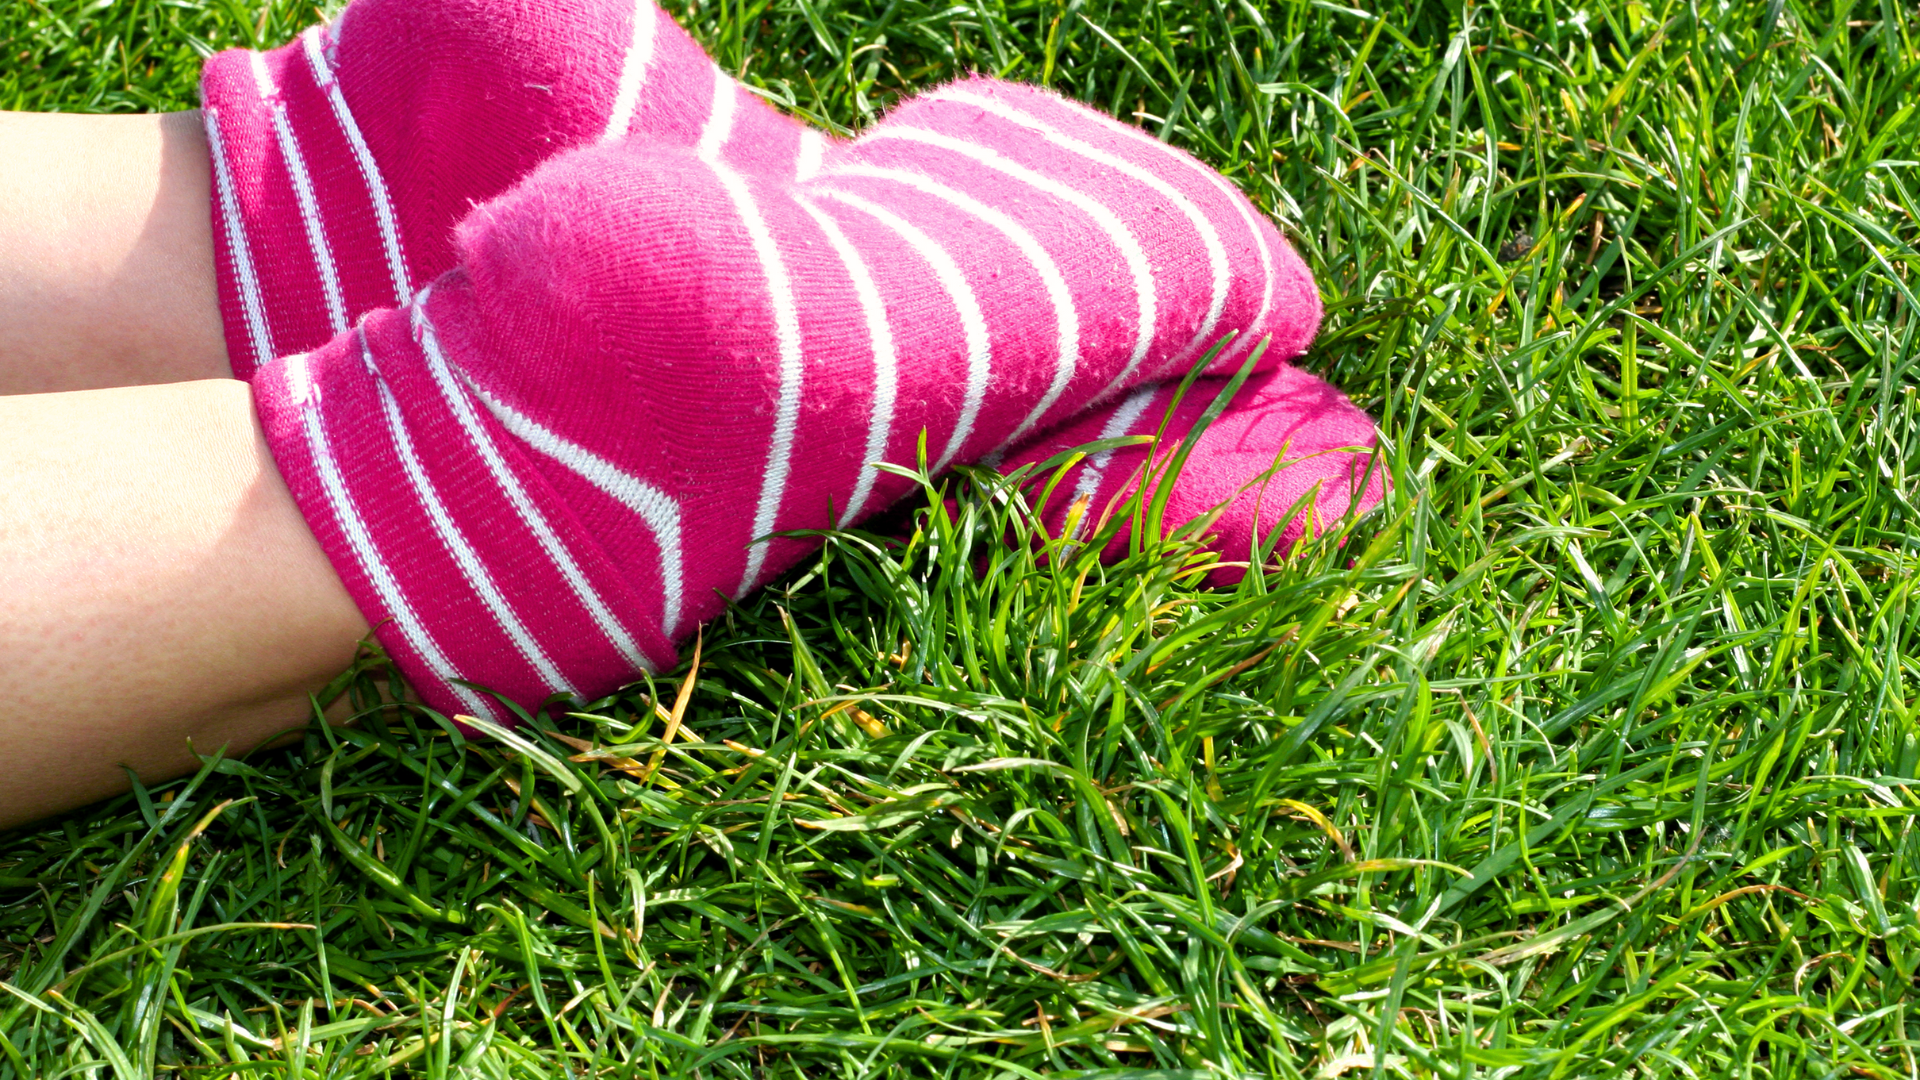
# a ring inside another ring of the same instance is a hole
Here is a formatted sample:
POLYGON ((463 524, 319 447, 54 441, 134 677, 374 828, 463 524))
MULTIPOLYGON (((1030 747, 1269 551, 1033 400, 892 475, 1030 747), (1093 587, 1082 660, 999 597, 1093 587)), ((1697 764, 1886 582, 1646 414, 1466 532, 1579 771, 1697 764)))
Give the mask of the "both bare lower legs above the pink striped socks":
POLYGON ((0 828, 311 715, 355 609, 230 379, 200 113, 0 113, 0 828))

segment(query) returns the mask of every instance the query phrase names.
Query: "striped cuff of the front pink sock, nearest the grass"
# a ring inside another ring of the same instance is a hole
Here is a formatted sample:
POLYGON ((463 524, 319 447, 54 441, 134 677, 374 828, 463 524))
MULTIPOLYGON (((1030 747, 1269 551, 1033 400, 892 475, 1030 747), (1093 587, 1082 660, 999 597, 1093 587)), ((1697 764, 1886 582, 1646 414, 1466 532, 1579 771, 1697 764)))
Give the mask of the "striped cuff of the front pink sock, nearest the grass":
POLYGON ((660 582, 580 528, 551 463, 463 375, 459 282, 261 367, 255 404, 321 548, 420 698, 513 724, 674 665, 660 582))

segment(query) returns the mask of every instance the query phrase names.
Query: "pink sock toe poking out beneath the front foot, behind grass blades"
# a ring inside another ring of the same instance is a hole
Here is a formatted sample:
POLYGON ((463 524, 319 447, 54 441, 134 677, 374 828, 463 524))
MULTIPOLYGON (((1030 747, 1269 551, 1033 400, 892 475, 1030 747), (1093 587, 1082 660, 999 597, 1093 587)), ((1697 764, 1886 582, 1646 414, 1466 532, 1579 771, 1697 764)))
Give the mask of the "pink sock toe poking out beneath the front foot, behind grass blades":
MULTIPOLYGON (((1154 467, 1164 467, 1173 444, 1187 438, 1225 384, 1221 377, 1194 380, 1171 417, 1167 405, 1175 384, 1142 386, 1112 409, 1087 413, 1021 446, 1002 471, 1104 438, 1158 434, 1165 421, 1158 448, 1121 446, 1094 454, 1054 488, 1041 513, 1048 534, 1091 536, 1140 490, 1148 452, 1154 467)), ((1200 434, 1167 490, 1165 527, 1171 530, 1223 507, 1208 530, 1213 536, 1208 548, 1223 565, 1208 577, 1213 584, 1233 584, 1246 573, 1256 544, 1271 542, 1275 555, 1288 555, 1304 538, 1338 530, 1348 513, 1379 505, 1388 484, 1386 463, 1375 459, 1375 446, 1373 419, 1323 379, 1294 365, 1260 371, 1200 434)), ((1148 498, 1152 494, 1148 490, 1148 498)), ((1127 532, 1121 530, 1106 557, 1125 552, 1127 532)))

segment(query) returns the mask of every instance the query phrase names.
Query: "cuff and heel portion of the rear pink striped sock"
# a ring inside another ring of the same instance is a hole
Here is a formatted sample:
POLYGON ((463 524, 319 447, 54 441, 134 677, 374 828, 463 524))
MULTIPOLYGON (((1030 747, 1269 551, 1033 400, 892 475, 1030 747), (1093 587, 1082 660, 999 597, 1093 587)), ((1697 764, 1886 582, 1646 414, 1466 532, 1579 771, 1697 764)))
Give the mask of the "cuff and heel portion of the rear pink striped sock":
POLYGON ((653 0, 355 0, 211 58, 202 100, 240 379, 411 300, 468 209, 563 150, 632 136, 787 175, 826 150, 653 0))

